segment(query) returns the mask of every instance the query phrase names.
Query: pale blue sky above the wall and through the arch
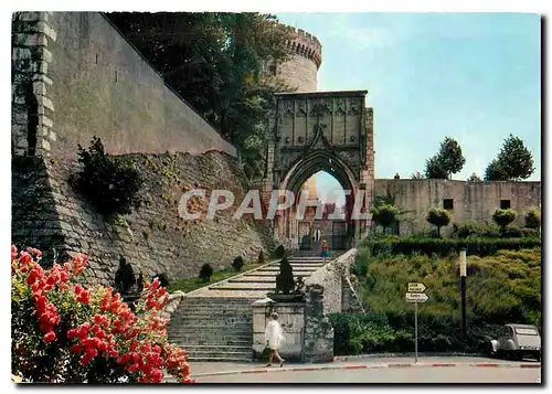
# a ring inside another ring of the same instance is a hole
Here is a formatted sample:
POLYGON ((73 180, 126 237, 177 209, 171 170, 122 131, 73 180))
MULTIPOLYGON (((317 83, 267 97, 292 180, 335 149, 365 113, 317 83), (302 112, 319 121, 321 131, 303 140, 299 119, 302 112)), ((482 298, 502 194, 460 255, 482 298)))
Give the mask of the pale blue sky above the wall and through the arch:
MULTIPOLYGON (((322 44, 318 90, 367 89, 375 178, 423 173, 445 137, 480 178, 510 134, 541 179, 541 31, 531 13, 279 13, 322 44)), ((317 175, 319 191, 339 188, 317 175)))

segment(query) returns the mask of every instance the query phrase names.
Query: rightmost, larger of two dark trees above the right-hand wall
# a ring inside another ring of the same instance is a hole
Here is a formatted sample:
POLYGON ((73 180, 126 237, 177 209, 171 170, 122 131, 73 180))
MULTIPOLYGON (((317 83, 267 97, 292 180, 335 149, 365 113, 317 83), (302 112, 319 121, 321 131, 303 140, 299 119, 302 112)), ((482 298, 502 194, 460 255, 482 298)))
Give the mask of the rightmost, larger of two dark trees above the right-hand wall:
POLYGON ((533 155, 520 138, 510 135, 505 139, 497 159, 487 167, 485 179, 519 181, 528 179, 533 172, 533 155))

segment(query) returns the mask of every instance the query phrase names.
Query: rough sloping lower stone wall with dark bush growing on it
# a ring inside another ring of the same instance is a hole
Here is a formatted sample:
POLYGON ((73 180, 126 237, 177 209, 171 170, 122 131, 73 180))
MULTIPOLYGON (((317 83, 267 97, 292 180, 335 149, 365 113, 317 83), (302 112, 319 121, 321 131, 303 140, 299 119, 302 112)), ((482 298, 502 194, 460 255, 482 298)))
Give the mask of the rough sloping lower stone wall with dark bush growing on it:
MULTIPOLYGON (((17 246, 52 248, 60 256, 81 252, 89 256, 85 283, 113 285, 123 255, 146 278, 164 273, 169 279, 192 277, 201 266, 230 267, 243 256, 256 259, 274 247, 264 222, 233 220, 235 207, 217 212, 214 221, 183 221, 178 202, 185 189, 229 189, 236 201, 247 183, 237 160, 221 152, 205 155, 134 155, 129 157, 146 179, 146 201, 130 215, 107 223, 85 198, 77 195, 68 177, 75 160, 14 158, 12 161, 12 242, 17 246)), ((206 205, 205 205, 206 206, 206 205)))

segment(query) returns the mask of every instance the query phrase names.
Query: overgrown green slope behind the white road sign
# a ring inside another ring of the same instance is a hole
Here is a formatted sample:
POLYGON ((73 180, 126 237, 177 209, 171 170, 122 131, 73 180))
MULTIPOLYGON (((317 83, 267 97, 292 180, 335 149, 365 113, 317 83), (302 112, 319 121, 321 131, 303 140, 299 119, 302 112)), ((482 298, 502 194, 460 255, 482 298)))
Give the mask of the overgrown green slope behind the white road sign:
POLYGON ((408 281, 429 299, 418 305, 421 351, 481 351, 507 322, 541 324, 541 249, 468 256, 467 326, 461 339, 458 257, 380 255, 360 249, 354 268, 365 315, 336 313, 336 353, 413 351, 414 305, 408 281))

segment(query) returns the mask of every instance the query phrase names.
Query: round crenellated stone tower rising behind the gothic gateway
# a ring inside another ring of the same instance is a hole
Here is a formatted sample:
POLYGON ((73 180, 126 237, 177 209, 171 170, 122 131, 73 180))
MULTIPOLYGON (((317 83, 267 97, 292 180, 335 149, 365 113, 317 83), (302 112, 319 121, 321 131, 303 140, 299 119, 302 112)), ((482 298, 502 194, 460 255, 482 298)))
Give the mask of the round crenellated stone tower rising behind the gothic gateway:
POLYGON ((296 87, 297 92, 316 92, 316 76, 322 63, 322 45, 316 36, 300 29, 289 26, 294 39, 288 42, 291 57, 273 65, 269 72, 296 87))

